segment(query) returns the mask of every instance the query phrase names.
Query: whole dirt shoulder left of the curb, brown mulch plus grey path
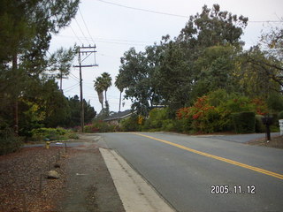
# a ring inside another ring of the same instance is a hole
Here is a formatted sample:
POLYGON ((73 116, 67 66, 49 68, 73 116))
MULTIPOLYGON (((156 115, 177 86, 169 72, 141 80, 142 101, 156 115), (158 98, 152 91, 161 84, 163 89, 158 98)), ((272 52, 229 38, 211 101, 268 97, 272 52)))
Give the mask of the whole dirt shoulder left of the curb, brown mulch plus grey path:
POLYGON ((124 211, 96 141, 0 156, 0 211, 124 211), (54 168, 55 164, 60 168, 54 168), (47 179, 57 170, 59 179, 47 179))

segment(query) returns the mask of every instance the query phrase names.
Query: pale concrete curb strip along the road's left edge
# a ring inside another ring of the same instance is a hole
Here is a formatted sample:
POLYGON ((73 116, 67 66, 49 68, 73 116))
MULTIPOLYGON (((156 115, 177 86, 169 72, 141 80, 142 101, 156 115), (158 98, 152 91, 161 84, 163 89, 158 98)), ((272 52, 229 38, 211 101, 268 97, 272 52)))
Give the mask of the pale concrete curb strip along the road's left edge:
POLYGON ((149 184, 114 150, 99 148, 126 212, 173 212, 149 184))

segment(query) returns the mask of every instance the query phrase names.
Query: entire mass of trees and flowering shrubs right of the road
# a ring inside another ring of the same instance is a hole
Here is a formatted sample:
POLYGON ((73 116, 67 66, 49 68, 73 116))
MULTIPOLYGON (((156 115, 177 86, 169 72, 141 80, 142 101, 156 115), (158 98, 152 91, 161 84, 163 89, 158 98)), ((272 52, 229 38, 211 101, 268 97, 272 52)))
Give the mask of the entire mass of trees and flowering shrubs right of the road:
POLYGON ((270 27, 256 46, 244 49, 248 24, 247 17, 218 4, 204 5, 177 37, 165 35, 144 51, 127 50, 115 85, 137 115, 121 129, 263 133, 262 118, 269 116, 272 132, 279 131, 283 30, 270 27))

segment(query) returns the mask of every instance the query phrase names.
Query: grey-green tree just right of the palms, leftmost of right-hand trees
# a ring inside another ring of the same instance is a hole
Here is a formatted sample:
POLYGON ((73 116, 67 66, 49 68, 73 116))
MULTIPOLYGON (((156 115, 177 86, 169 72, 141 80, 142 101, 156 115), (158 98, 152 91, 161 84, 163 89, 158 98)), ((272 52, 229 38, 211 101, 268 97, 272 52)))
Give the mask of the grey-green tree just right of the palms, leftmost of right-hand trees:
POLYGON ((132 108, 147 116, 154 104, 160 102, 155 86, 154 72, 159 64, 161 48, 147 47, 145 52, 129 49, 121 57, 119 77, 126 88, 126 99, 133 102, 132 108))

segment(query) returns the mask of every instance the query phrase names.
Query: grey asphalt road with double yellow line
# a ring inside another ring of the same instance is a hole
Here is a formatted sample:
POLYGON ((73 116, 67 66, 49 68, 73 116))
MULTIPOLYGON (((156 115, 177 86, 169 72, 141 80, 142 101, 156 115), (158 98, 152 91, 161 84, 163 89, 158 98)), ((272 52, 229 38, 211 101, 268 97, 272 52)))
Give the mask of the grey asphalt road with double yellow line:
POLYGON ((283 211, 281 149, 171 133, 100 136, 177 211, 283 211))

